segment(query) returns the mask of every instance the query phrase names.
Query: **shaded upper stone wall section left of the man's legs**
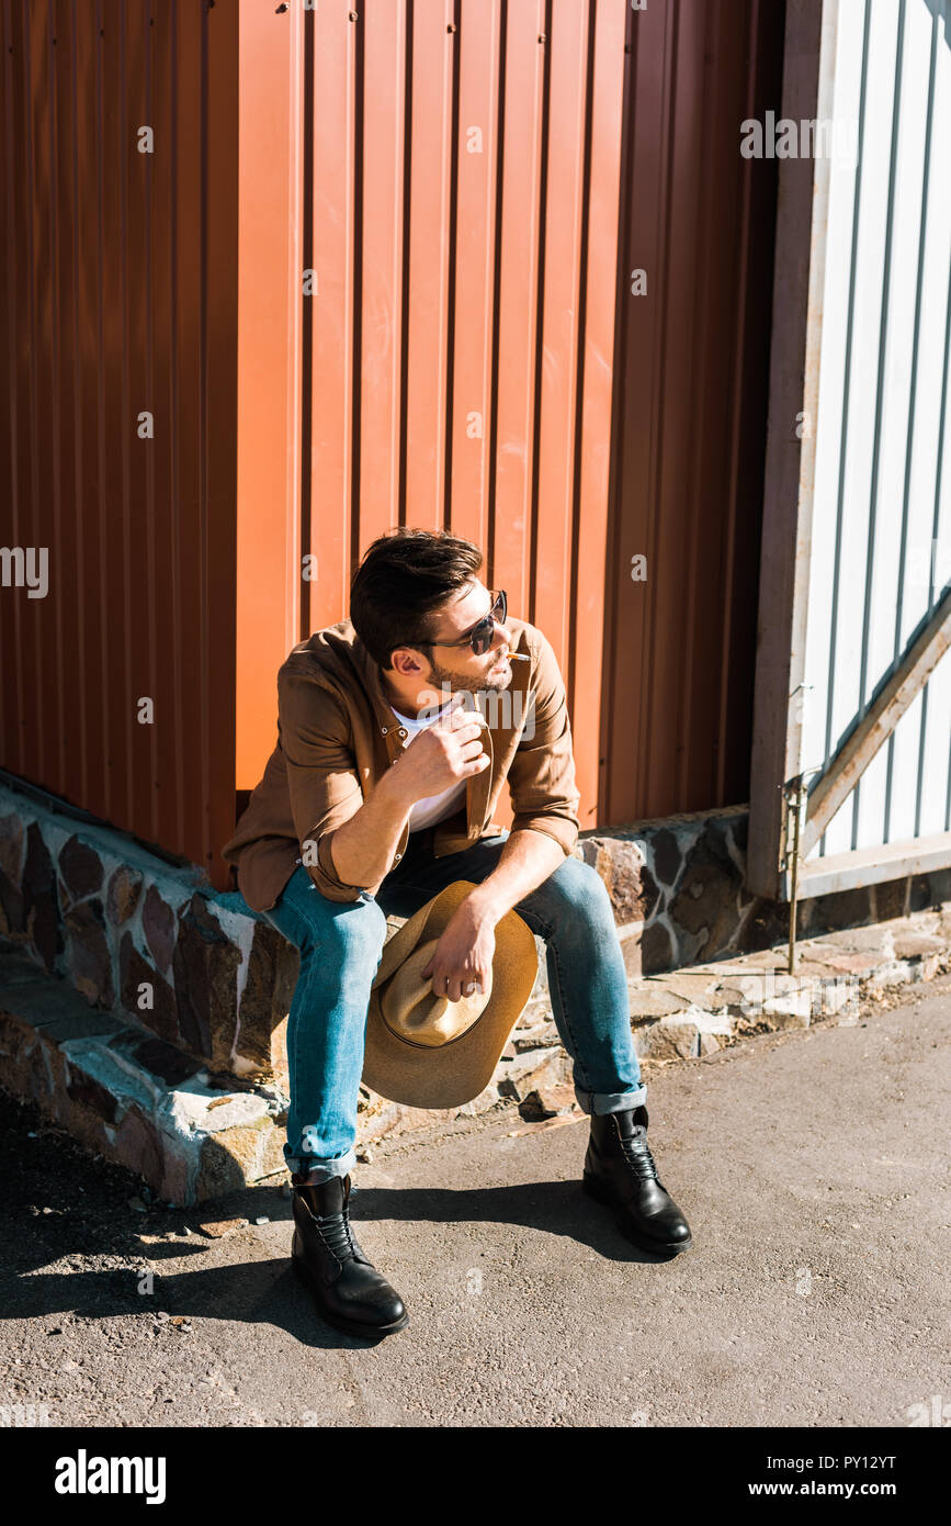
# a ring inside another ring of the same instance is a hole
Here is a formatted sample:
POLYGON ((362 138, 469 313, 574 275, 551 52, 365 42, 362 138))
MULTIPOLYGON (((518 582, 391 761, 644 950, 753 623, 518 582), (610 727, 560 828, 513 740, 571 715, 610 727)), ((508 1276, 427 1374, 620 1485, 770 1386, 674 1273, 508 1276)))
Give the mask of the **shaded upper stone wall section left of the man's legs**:
POLYGON ((0 934, 209 1074, 267 1077, 283 1068, 297 951, 236 900, 0 787, 0 934))

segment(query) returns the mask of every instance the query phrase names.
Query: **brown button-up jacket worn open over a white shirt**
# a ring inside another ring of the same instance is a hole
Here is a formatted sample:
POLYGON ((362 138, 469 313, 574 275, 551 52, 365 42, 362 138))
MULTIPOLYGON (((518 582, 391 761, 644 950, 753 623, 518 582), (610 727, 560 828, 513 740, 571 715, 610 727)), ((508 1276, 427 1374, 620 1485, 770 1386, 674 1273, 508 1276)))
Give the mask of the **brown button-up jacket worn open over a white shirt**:
MULTIPOLYGON (((570 855, 581 827, 572 728, 558 661, 547 638, 509 617, 512 662, 508 690, 466 696, 489 725, 483 746, 492 766, 466 781, 466 806, 437 823, 433 853, 457 853, 501 827, 492 812, 504 780, 512 800, 512 832, 544 832, 570 855), (521 739, 521 740, 520 740, 521 739)), ((331 858, 334 832, 360 810, 405 742, 405 728, 389 707, 379 667, 349 620, 317 630, 277 671, 277 746, 253 790, 223 858, 238 865, 238 888, 255 911, 270 909, 299 858, 329 900, 357 900, 376 885, 344 885, 331 858)), ((393 868, 408 839, 404 826, 393 868)))

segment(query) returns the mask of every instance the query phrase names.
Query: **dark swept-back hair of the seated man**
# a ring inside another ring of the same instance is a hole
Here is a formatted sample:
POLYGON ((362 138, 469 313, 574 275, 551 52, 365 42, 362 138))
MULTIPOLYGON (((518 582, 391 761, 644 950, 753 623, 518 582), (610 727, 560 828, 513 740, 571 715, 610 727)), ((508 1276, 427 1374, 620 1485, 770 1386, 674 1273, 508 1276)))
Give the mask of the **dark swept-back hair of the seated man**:
POLYGON ((428 647, 433 612, 465 588, 482 551, 448 530, 393 530, 367 546, 351 583, 351 623, 379 667, 395 647, 428 647))

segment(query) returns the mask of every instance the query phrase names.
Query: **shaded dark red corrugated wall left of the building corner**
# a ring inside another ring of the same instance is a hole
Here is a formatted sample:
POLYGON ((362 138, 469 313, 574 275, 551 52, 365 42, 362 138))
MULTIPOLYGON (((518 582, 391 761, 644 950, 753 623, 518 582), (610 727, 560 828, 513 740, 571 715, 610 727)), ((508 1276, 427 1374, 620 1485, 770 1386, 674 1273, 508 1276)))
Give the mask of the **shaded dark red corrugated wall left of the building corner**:
POLYGON ((44 598, 0 589, 2 761, 204 865, 235 787, 227 12, 0 6, 0 540, 49 554, 44 598))

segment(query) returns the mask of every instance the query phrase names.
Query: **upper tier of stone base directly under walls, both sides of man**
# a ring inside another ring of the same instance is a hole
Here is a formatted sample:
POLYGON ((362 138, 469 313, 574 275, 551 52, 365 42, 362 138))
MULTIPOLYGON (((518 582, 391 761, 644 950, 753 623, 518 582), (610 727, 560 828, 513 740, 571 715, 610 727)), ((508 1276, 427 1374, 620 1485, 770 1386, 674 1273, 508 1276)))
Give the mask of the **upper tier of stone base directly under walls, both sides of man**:
MULTIPOLYGON (((788 906, 744 890, 745 845, 745 807, 582 835, 576 855, 608 887, 632 989, 643 975, 788 937, 788 906)), ((866 926, 949 899, 951 871, 873 885, 802 902, 799 931, 805 938, 866 926)), ((90 1009, 198 1059, 212 1082, 287 1083, 283 1036, 297 951, 264 919, 239 911, 233 893, 213 891, 200 871, 171 868, 126 835, 6 786, 0 935, 66 977, 90 1009)), ((538 978, 520 1022, 530 1039, 521 1053, 541 1050, 533 1061, 555 1061, 540 938, 536 948, 538 978)), ((506 1058, 517 1053, 509 1047, 506 1058)), ((509 1077, 518 1068, 509 1065, 509 1077)))

